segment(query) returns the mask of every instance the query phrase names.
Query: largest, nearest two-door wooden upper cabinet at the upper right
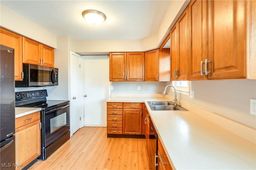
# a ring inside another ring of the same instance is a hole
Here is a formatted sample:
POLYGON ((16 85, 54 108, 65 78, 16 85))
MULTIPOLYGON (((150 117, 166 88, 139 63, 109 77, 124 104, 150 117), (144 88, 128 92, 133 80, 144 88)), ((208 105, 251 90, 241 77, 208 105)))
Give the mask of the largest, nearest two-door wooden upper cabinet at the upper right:
POLYGON ((250 1, 200 1, 189 4, 190 80, 255 78, 255 15, 250 1), (246 10, 250 6, 251 10, 246 10), (254 24, 252 24, 254 22, 254 24), (208 26, 207 26, 208 25, 208 26), (248 25, 250 25, 248 27, 248 25), (252 35, 253 34, 253 35, 252 35), (250 36, 248 36, 250 35, 250 36), (252 35, 252 36, 251 36, 252 35), (247 51, 247 49, 250 49, 247 51), (247 74, 249 72, 254 75, 247 74), (254 62, 253 62, 254 61, 254 62), (247 76, 250 75, 250 76, 247 76))

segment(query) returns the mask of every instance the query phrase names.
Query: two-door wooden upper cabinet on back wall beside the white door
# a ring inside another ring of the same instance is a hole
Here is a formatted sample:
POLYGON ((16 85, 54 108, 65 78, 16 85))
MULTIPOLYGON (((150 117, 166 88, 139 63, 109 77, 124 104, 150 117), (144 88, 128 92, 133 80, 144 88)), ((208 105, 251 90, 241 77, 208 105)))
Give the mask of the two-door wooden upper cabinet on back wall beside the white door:
POLYGON ((144 81, 144 52, 110 53, 110 81, 144 81))

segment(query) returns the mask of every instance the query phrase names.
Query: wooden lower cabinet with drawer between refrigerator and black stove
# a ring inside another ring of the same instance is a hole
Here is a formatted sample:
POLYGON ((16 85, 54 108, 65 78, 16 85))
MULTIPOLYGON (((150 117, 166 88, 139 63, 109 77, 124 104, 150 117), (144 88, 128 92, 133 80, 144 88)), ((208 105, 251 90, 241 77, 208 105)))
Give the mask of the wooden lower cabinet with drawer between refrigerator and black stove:
POLYGON ((15 157, 20 170, 41 154, 40 111, 15 119, 15 157))

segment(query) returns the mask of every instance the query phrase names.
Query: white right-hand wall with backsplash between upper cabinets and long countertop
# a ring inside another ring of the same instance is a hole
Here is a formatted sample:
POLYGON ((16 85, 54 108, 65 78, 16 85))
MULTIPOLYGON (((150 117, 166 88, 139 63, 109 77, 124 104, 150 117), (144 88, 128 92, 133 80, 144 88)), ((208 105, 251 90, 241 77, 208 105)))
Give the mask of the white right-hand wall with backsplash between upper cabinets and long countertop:
MULTIPOLYGON (((194 99, 186 95, 177 98, 256 128, 256 116, 250 114, 250 98, 256 99, 256 80, 202 80, 191 84, 194 99)), ((170 89, 167 94, 174 96, 170 89)))

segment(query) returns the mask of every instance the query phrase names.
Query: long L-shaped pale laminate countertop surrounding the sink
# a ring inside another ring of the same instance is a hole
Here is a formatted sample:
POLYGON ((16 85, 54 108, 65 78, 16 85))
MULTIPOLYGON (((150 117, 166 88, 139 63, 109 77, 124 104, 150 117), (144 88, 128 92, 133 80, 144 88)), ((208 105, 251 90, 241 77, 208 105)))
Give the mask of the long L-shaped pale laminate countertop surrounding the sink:
POLYGON ((147 101, 167 98, 111 97, 106 102, 144 102, 172 168, 256 169, 256 145, 192 111, 152 111, 147 101))

